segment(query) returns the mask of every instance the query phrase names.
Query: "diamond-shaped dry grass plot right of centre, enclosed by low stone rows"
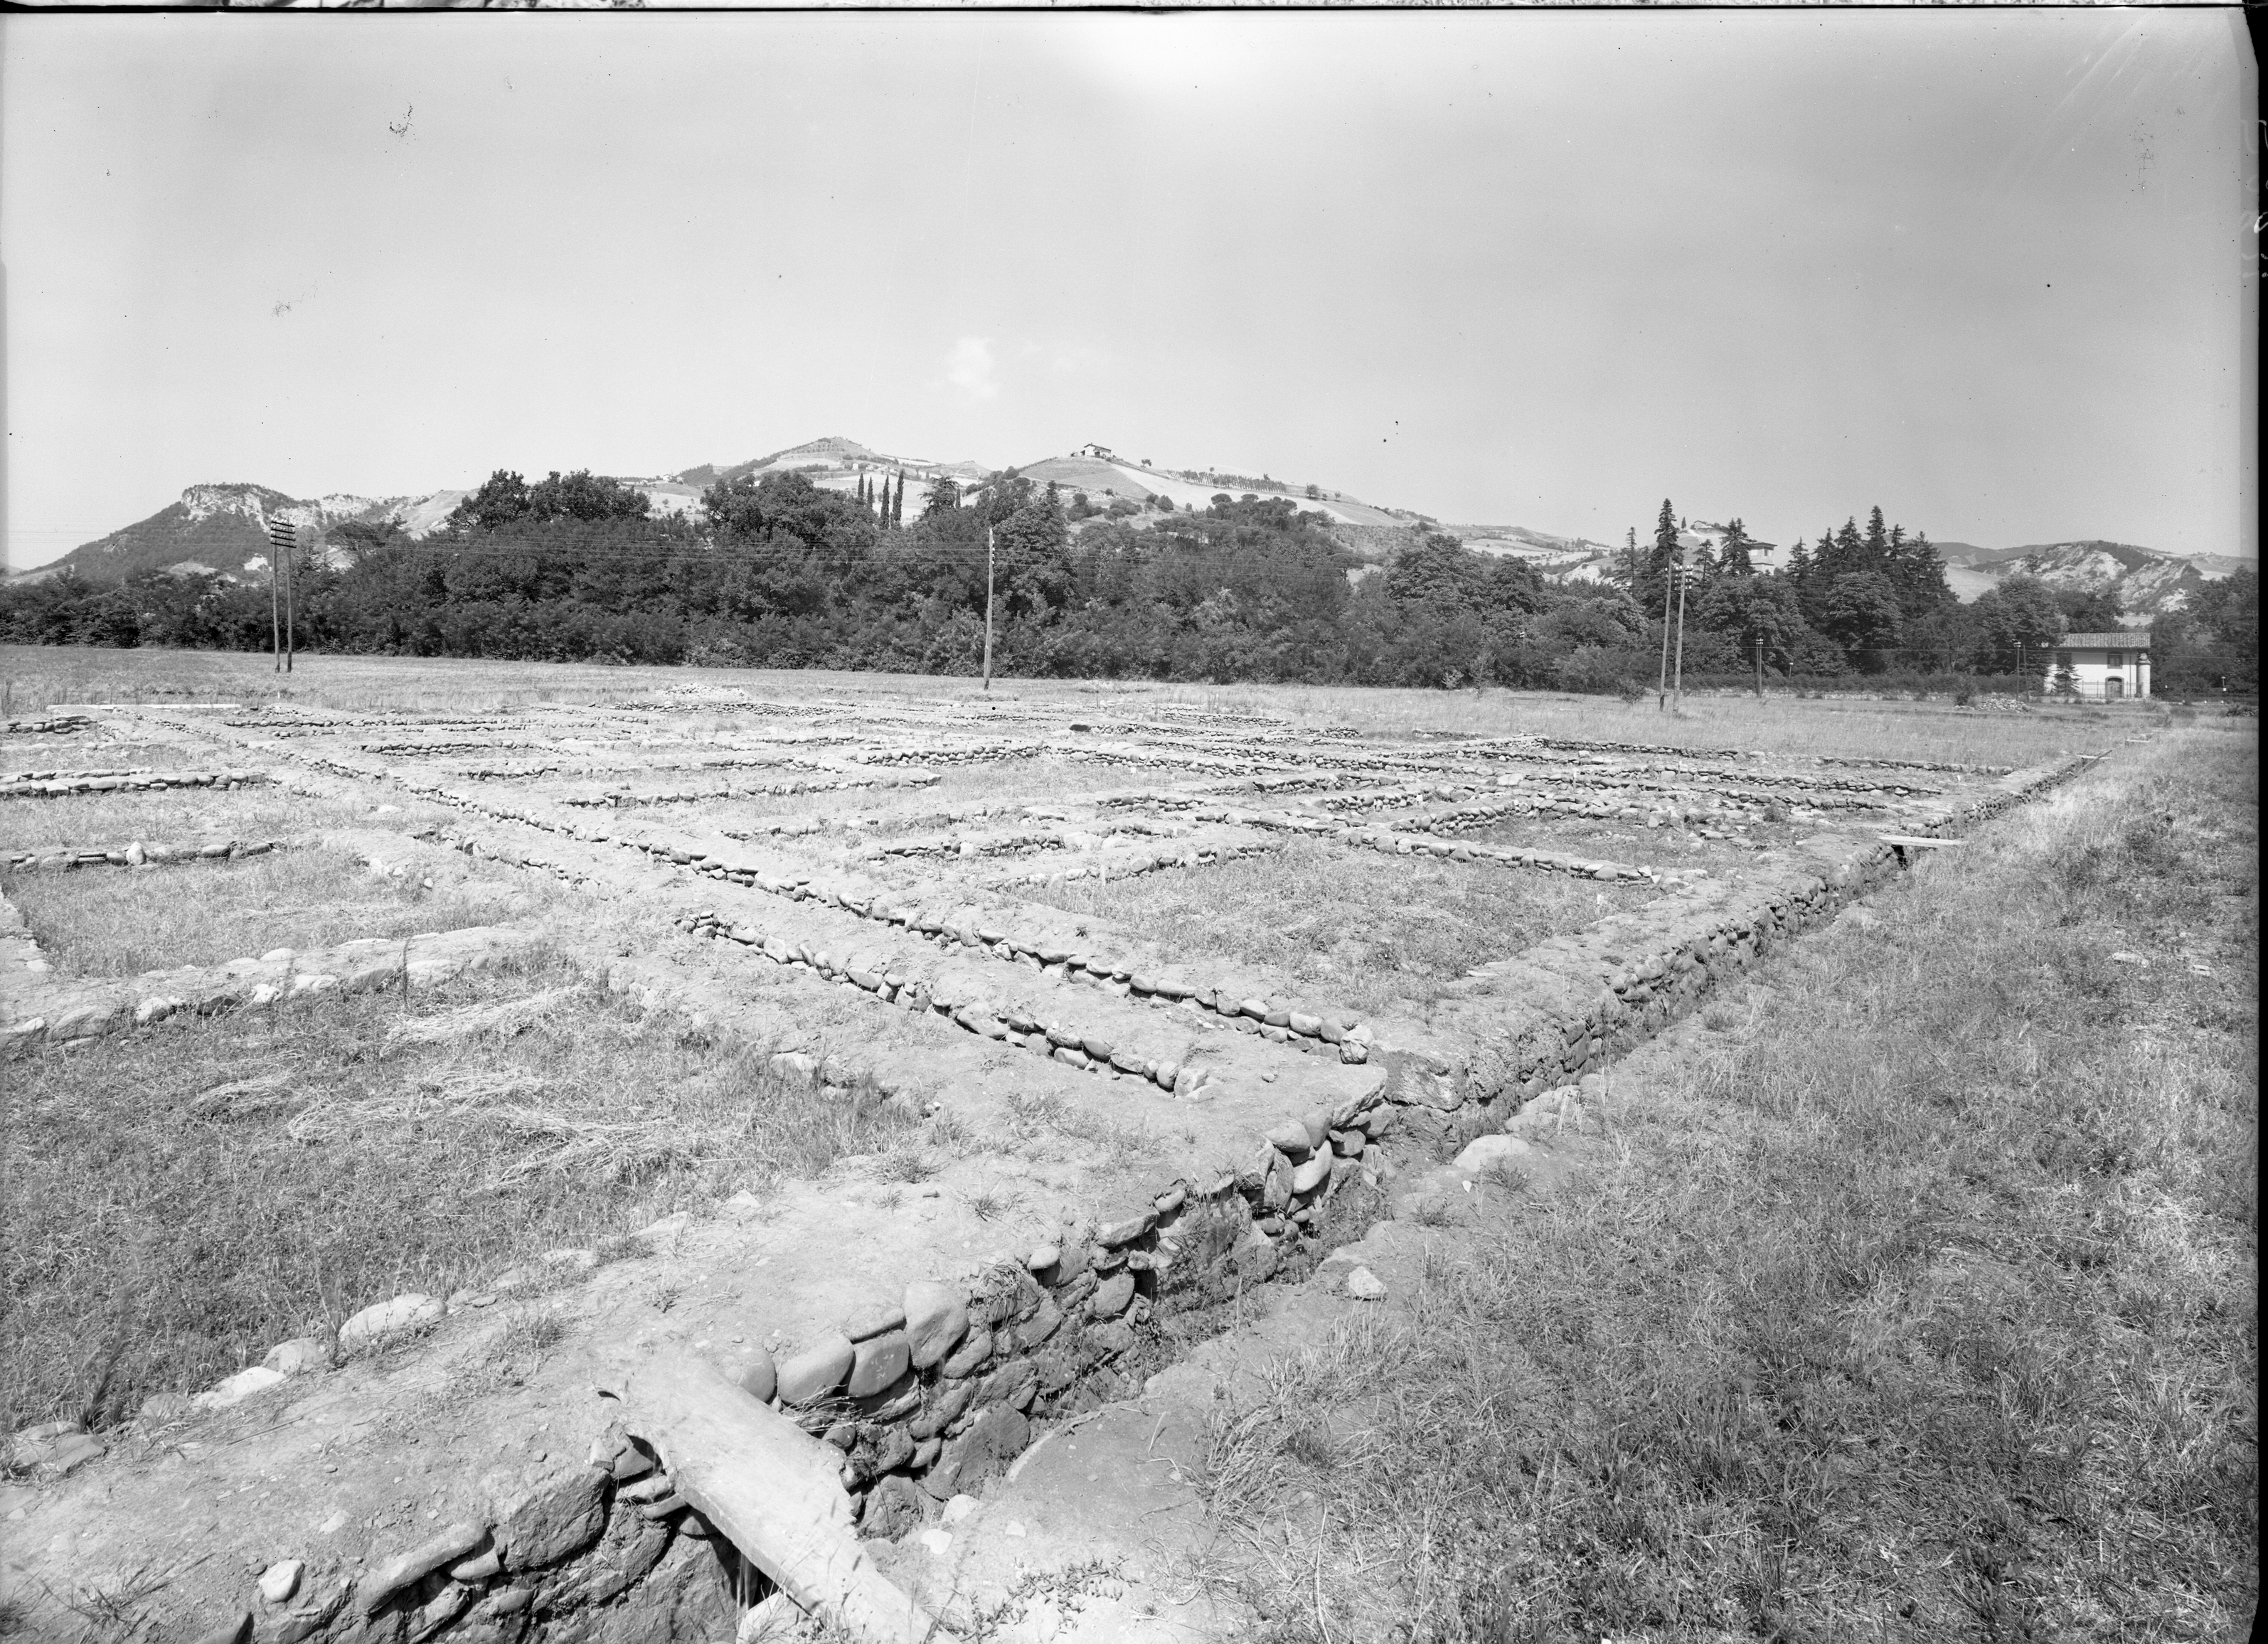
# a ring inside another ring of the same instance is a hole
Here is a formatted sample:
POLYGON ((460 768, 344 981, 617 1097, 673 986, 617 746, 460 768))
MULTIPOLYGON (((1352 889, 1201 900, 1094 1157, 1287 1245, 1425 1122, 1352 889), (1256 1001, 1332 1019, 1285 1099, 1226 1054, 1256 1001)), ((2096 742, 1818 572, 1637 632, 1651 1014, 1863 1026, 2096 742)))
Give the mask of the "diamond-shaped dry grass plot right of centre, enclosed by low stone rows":
POLYGON ((1191 952, 1275 966, 1352 1009, 1422 1014, 1474 966, 1660 891, 1290 839, 1263 857, 1025 896, 1191 952))

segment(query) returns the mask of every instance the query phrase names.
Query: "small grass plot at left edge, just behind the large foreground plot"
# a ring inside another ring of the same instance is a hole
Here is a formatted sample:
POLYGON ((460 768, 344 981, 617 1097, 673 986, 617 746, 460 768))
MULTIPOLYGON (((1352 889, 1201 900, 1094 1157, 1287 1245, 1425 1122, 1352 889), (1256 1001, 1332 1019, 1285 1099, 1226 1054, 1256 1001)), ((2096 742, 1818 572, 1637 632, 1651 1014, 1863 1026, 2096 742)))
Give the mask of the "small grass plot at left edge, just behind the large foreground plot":
POLYGON ((227 964, 270 948, 327 948, 358 937, 497 925, 551 900, 551 880, 515 875, 499 893, 463 880, 386 878, 347 850, 272 850, 238 862, 186 862, 141 873, 79 868, 16 873, 7 898, 54 966, 75 975, 141 975, 227 964))

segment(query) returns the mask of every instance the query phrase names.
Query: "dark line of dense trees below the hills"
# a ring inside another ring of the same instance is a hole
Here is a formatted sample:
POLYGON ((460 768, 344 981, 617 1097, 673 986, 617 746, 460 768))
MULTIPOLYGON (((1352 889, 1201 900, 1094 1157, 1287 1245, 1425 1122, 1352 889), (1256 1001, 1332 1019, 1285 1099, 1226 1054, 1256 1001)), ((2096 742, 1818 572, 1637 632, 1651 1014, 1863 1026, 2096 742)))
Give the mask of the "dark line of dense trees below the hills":
MULTIPOLYGON (((424 540, 349 522, 302 546, 299 642, 313 651, 556 662, 703 662, 973 673, 987 544, 996 669, 1023 676, 1315 685, 1513 685, 1637 694, 1683 601, 1687 683, 1774 680, 2039 689, 2066 630, 2118 626, 2109 594, 2012 576, 1971 605, 1923 533, 1873 508, 1758 569, 1740 519, 1681 551, 1665 499, 1608 576, 1411 531, 1383 565, 1288 497, 1220 492, 1141 508, 1009 469, 964 494, 905 476, 855 494, 803 474, 717 481, 689 515, 587 472, 499 469, 424 540), (1683 587, 1678 581, 1683 578, 1683 587)), ((2161 694, 2254 689, 2259 592, 2241 571, 2157 619, 2161 694)), ((0 639, 263 651, 268 590, 220 574, 0 590, 0 639)))

